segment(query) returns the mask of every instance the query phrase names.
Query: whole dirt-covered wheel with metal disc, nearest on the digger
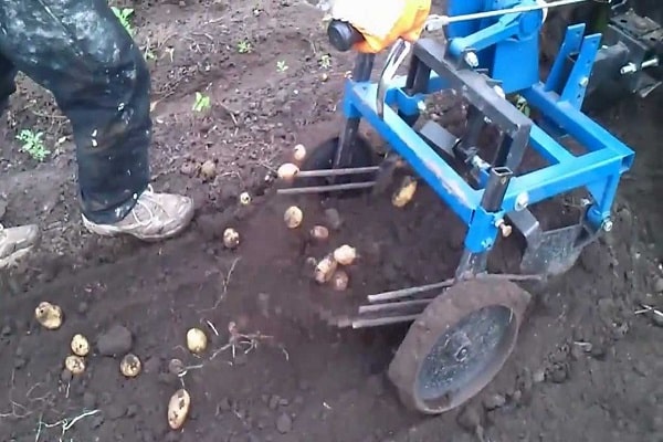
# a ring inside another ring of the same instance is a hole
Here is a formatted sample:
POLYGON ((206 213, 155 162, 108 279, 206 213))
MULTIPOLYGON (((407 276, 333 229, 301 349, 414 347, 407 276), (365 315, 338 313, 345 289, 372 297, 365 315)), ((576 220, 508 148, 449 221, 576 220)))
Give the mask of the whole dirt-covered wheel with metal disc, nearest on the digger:
POLYGON ((530 295, 508 281, 466 281, 411 325, 389 367, 402 402, 425 414, 452 410, 493 380, 511 355, 530 295))

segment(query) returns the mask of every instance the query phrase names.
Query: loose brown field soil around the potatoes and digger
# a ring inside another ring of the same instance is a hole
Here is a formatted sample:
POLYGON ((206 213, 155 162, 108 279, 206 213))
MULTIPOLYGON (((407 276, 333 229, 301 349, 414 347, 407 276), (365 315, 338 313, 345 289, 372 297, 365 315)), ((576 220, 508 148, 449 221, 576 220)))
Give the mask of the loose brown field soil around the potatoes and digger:
MULTIPOLYGON (((329 221, 328 207, 265 185, 296 143, 314 146, 339 128, 351 57, 330 50, 319 11, 288 0, 129 6, 137 41, 155 55, 154 186, 192 196, 197 217, 162 244, 86 233, 69 125, 48 93, 21 80, 2 129, 0 212, 4 225, 38 222, 43 241, 0 294, 0 440, 663 441, 661 328, 634 313, 663 304, 661 93, 596 115, 636 150, 614 229, 536 291, 495 380, 466 407, 430 418, 403 409, 386 380, 406 326, 337 329, 319 316, 450 276, 464 228, 420 187, 403 209, 388 196, 333 201, 343 225, 312 245, 301 232, 329 221), (192 110, 196 92, 209 109, 192 110), (45 161, 20 150, 25 128, 44 133, 45 161), (243 191, 253 196, 246 207, 243 191), (294 202, 305 225, 292 231, 283 211, 294 202), (236 250, 222 244, 228 227, 241 235, 236 250), (361 259, 349 290, 328 293, 306 259, 343 243, 361 259), (33 318, 41 301, 62 307, 60 329, 33 318), (230 323, 257 347, 221 351, 230 323), (210 337, 198 357, 185 349, 194 326, 210 337), (76 333, 93 352, 72 377, 63 361, 76 333), (128 351, 143 362, 134 379, 119 371, 128 351), (185 376, 169 372, 172 358, 191 367, 185 376), (182 385, 191 412, 171 431, 167 403, 182 385)), ((552 203, 543 221, 565 210, 552 203)), ((494 267, 515 260, 495 256, 494 267)))

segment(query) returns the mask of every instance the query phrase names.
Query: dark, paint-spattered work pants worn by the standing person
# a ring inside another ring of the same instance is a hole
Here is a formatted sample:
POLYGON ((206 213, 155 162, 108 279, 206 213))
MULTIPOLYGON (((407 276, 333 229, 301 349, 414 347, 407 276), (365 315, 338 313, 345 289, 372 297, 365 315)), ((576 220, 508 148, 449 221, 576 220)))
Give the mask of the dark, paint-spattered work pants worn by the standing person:
POLYGON ((122 220, 149 182, 149 72, 106 0, 0 0, 0 103, 23 72, 49 90, 76 144, 83 213, 122 220))

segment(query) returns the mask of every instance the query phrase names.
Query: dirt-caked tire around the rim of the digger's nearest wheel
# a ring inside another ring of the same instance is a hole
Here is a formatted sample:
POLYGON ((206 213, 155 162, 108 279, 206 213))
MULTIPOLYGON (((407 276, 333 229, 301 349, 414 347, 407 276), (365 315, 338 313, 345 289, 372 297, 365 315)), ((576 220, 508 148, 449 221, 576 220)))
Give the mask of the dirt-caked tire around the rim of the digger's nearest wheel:
POLYGON ((424 414, 441 414, 476 396, 499 372, 512 354, 530 298, 529 293, 518 285, 496 280, 461 282, 438 296, 410 326, 389 366, 388 377, 397 388, 401 402, 409 409, 424 414), (444 403, 435 407, 427 404, 417 392, 417 379, 425 357, 448 329, 469 314, 488 306, 504 306, 513 313, 512 319, 516 322, 515 333, 507 344, 506 351, 494 359, 481 377, 453 397, 445 398, 444 403))

